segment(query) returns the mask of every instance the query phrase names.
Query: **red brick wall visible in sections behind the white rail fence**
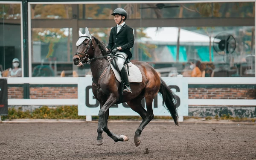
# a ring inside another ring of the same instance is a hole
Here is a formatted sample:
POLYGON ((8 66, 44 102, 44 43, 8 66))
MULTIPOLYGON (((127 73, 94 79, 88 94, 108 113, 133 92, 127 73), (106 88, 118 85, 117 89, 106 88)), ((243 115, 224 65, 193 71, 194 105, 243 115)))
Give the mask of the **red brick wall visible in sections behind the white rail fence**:
MULTIPOLYGON (((30 87, 30 99, 77 98, 77 87, 30 87)), ((8 99, 23 99, 23 87, 8 87, 8 99)), ((189 99, 256 99, 256 89, 189 88, 189 99)))

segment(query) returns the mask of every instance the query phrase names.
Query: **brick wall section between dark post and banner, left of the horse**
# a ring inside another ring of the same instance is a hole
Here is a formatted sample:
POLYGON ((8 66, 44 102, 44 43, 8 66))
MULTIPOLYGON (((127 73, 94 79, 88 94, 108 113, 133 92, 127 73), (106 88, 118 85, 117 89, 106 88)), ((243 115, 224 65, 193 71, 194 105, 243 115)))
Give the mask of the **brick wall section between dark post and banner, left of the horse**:
POLYGON ((30 99, 77 98, 77 87, 30 87, 30 99))

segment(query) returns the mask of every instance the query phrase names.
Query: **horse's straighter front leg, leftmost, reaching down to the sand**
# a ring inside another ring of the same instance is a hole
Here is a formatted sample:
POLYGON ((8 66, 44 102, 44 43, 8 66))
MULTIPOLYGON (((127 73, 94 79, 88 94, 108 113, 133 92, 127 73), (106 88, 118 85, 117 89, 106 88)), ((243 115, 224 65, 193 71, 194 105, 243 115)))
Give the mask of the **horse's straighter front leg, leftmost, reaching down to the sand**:
POLYGON ((104 127, 107 124, 107 117, 105 116, 105 113, 108 111, 108 109, 114 105, 117 102, 117 98, 113 95, 113 93, 110 94, 105 104, 102 106, 102 108, 99 110, 99 122, 98 122, 98 137, 97 137, 97 145, 103 144, 103 137, 102 133, 104 130, 104 127), (104 118, 105 117, 105 118, 104 118))

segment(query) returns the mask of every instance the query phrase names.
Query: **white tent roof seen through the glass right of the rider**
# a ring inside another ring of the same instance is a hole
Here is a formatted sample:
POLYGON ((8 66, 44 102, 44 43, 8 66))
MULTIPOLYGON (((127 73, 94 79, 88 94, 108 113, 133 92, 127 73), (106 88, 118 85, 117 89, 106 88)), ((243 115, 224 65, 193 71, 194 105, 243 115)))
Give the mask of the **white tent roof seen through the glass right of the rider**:
MULTIPOLYGON (((149 38, 141 38, 141 41, 177 43, 178 28, 162 27, 157 30, 156 27, 150 27, 143 31, 149 38)), ((213 42, 214 38, 211 38, 213 42)), ((180 29, 180 43, 208 43, 210 40, 207 35, 180 29)))

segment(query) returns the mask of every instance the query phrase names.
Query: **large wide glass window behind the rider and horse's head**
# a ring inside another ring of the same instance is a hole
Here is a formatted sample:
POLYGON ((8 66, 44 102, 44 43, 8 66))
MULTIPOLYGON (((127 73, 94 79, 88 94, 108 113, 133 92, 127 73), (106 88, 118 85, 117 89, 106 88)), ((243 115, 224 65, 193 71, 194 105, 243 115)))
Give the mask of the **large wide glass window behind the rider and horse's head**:
POLYGON ((253 2, 31 7, 33 76, 90 74, 89 64, 73 65, 71 53, 76 50, 78 30, 84 33, 87 27, 92 35, 108 45, 111 28, 116 26, 111 13, 119 7, 127 11, 125 22, 134 29, 131 61, 148 62, 161 76, 255 76, 253 2), (55 20, 44 20, 49 18, 55 20), (50 68, 49 73, 35 74, 41 72, 40 66, 50 68))

